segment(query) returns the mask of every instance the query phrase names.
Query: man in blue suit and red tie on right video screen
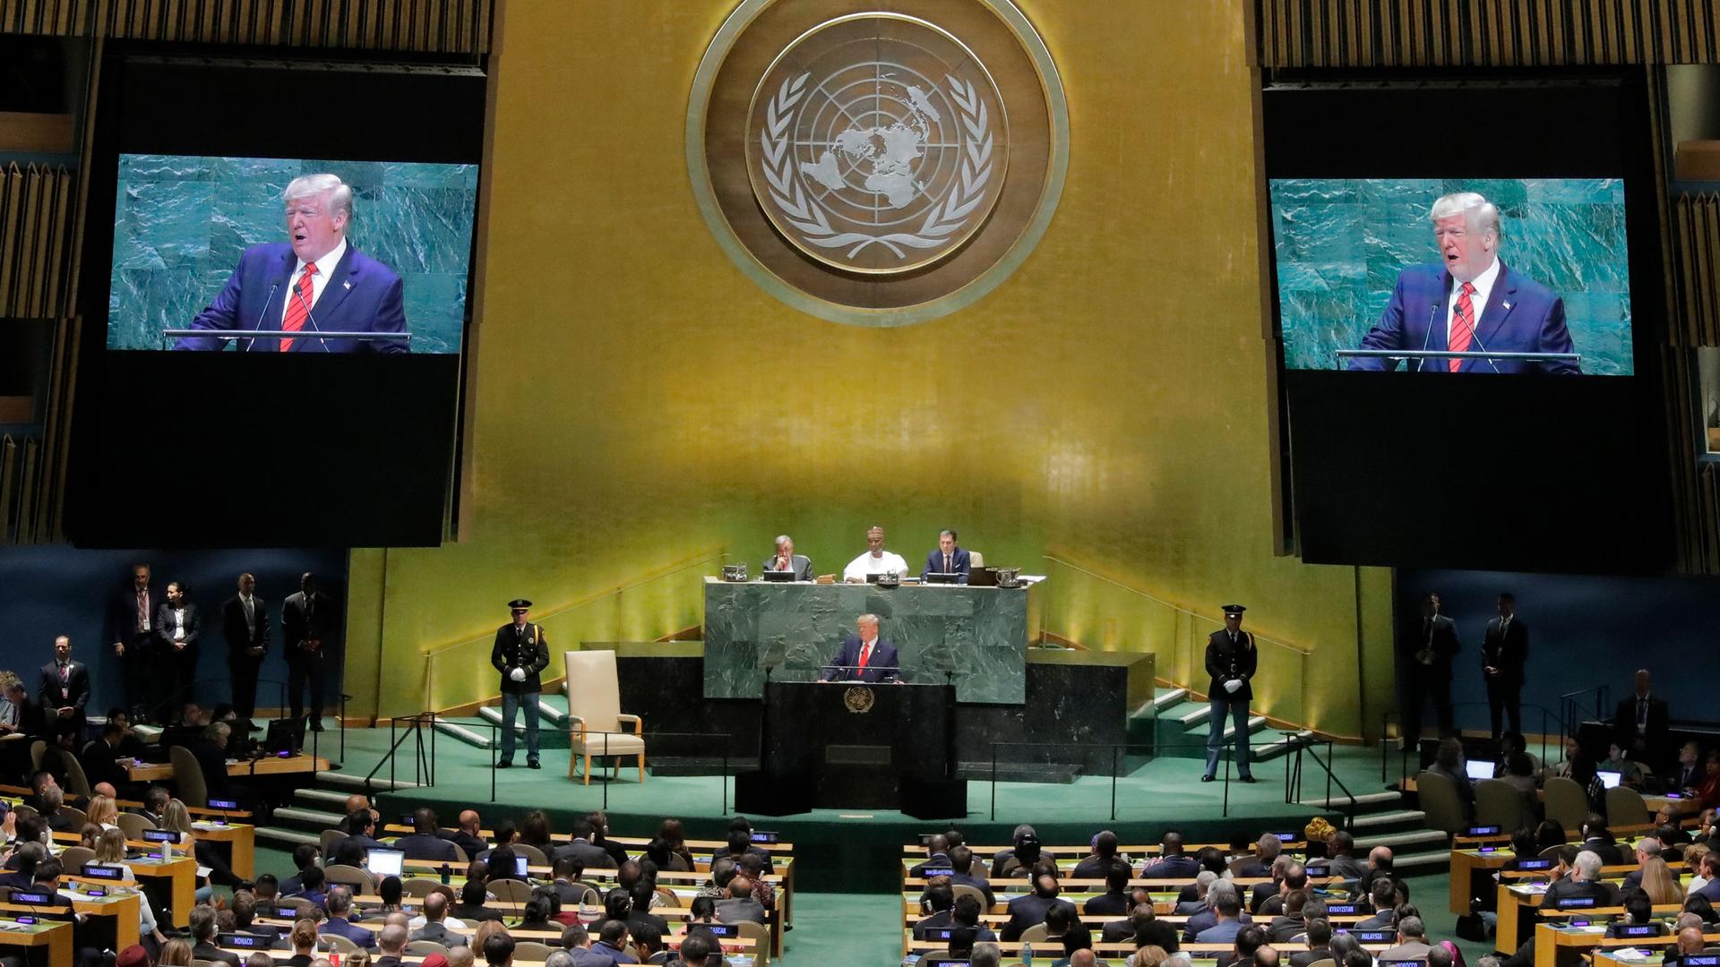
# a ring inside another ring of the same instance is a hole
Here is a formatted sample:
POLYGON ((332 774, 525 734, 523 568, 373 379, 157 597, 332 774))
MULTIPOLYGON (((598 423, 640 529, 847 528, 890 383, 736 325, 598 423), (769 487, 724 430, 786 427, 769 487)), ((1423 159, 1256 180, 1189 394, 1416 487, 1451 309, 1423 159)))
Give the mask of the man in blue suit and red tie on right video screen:
MULTIPOLYGON (((1500 212, 1460 191, 1433 203, 1440 263, 1398 272, 1391 301, 1362 337, 1361 349, 1453 353, 1570 353, 1565 303, 1546 286, 1512 272, 1498 258, 1500 212)), ((1393 358, 1352 358, 1352 370, 1395 370, 1393 358)), ((1581 372, 1574 360, 1409 360, 1422 373, 1581 372)))

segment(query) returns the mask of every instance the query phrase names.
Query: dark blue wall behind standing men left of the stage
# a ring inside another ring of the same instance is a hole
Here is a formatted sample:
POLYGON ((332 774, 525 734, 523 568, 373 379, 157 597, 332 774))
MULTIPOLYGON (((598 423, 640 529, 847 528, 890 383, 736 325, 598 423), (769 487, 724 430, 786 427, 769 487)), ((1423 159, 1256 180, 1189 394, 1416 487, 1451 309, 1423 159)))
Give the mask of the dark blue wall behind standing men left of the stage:
MULTIPOLYGON (((316 575, 318 590, 346 606, 346 551, 79 551, 76 547, 0 549, 0 668, 15 671, 34 693, 38 671, 53 659, 53 638, 72 637, 72 656, 89 664, 89 714, 120 705, 126 687, 120 659, 107 642, 107 609, 129 587, 131 566, 150 564, 150 587, 165 597, 167 582, 182 580, 203 611, 196 700, 205 707, 232 699, 220 606, 237 594, 241 571, 256 575, 268 606, 270 647, 256 688, 258 707, 275 707, 287 662, 280 650, 280 602, 299 590, 299 575, 316 575)), ((329 714, 339 709, 344 649, 329 661, 329 714)))

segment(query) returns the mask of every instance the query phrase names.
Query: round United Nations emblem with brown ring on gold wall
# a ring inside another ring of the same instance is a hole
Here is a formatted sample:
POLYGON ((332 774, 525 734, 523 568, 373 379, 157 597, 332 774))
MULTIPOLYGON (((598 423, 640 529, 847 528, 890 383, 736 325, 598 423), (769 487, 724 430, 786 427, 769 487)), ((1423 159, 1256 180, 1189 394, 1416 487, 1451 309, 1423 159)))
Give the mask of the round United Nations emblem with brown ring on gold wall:
POLYGON ((1061 193, 1051 55, 1010 0, 746 0, 688 105, 688 169, 729 256, 836 322, 905 325, 1003 280, 1061 193))

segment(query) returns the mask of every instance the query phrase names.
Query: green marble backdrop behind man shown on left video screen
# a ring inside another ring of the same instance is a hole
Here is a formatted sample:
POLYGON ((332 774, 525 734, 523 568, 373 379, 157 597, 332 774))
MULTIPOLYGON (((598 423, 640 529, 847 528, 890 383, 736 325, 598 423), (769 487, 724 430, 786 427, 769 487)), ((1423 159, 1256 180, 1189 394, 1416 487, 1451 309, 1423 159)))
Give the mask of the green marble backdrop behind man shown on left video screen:
POLYGON ((459 353, 478 165, 120 155, 108 349, 165 349, 239 253, 287 241, 280 193, 303 174, 353 186, 347 244, 406 289, 413 353, 459 353))

